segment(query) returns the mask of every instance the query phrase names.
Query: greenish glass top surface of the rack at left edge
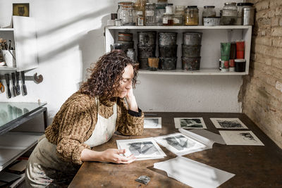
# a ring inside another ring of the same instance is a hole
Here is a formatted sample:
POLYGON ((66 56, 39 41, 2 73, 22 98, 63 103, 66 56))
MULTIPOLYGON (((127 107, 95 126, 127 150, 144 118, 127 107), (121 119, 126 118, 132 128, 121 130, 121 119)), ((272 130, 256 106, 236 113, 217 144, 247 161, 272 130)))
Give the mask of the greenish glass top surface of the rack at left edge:
POLYGON ((0 171, 23 155, 44 132, 7 132, 0 135, 0 171))

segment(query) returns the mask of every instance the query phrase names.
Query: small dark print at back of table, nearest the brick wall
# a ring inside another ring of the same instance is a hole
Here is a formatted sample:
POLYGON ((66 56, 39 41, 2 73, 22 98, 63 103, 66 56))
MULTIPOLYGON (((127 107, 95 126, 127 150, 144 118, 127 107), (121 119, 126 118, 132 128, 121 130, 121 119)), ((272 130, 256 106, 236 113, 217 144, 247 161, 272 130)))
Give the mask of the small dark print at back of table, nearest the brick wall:
POLYGON ((211 118, 211 120, 218 129, 247 129, 239 118, 211 118))

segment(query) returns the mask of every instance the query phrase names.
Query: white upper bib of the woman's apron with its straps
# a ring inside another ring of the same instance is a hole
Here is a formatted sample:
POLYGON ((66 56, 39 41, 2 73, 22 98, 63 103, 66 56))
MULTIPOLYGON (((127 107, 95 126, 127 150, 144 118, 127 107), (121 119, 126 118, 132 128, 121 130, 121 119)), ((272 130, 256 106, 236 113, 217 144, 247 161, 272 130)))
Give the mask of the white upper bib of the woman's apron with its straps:
POLYGON ((109 118, 103 118, 101 115, 99 115, 99 99, 95 98, 95 101, 97 105, 97 123, 91 137, 84 142, 90 147, 99 146, 108 142, 116 131, 116 104, 113 106, 113 115, 111 115, 109 118))

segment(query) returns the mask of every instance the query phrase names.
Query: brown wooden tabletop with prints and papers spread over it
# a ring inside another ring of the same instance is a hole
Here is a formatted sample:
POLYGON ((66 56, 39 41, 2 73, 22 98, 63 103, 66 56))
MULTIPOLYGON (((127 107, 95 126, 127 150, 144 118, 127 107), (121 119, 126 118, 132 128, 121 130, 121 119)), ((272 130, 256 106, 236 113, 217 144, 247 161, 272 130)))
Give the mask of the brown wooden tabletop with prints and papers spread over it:
MULTIPOLYGON (((155 113, 155 112, 154 112, 155 113)), ((264 143, 265 146, 227 146, 214 144, 212 149, 190 153, 185 157, 211 165, 214 168, 234 173, 221 187, 282 187, 282 150, 274 144, 259 128, 243 113, 155 113, 161 117, 161 129, 145 129, 140 137, 125 137, 115 134, 109 142, 97 146, 94 150, 103 151, 117 148, 117 139, 135 139, 156 137, 173 132, 173 118, 204 118, 207 130, 219 134, 209 118, 240 118, 249 130, 264 143)), ((114 163, 85 162, 75 175, 69 187, 188 187, 168 177, 162 170, 153 168, 154 163, 175 158, 176 155, 161 146, 166 158, 135 161, 127 165, 114 163), (140 175, 151 178, 149 184, 135 182, 140 175)))

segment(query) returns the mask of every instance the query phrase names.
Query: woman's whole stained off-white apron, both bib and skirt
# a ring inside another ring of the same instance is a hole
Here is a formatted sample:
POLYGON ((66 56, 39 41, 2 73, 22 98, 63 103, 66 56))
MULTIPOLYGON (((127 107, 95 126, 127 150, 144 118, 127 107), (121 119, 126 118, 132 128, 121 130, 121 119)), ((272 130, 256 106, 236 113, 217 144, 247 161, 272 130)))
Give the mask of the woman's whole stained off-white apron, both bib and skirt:
MULTIPOLYGON (((98 112, 99 99, 96 98, 95 101, 98 112)), ((113 108, 114 114, 109 118, 103 118, 97 113, 94 131, 85 144, 93 147, 111 139, 116 130, 116 104, 113 108)), ((43 135, 28 159, 25 184, 27 187, 68 187, 79 168, 80 165, 61 161, 56 154, 56 145, 51 144, 43 135)))

